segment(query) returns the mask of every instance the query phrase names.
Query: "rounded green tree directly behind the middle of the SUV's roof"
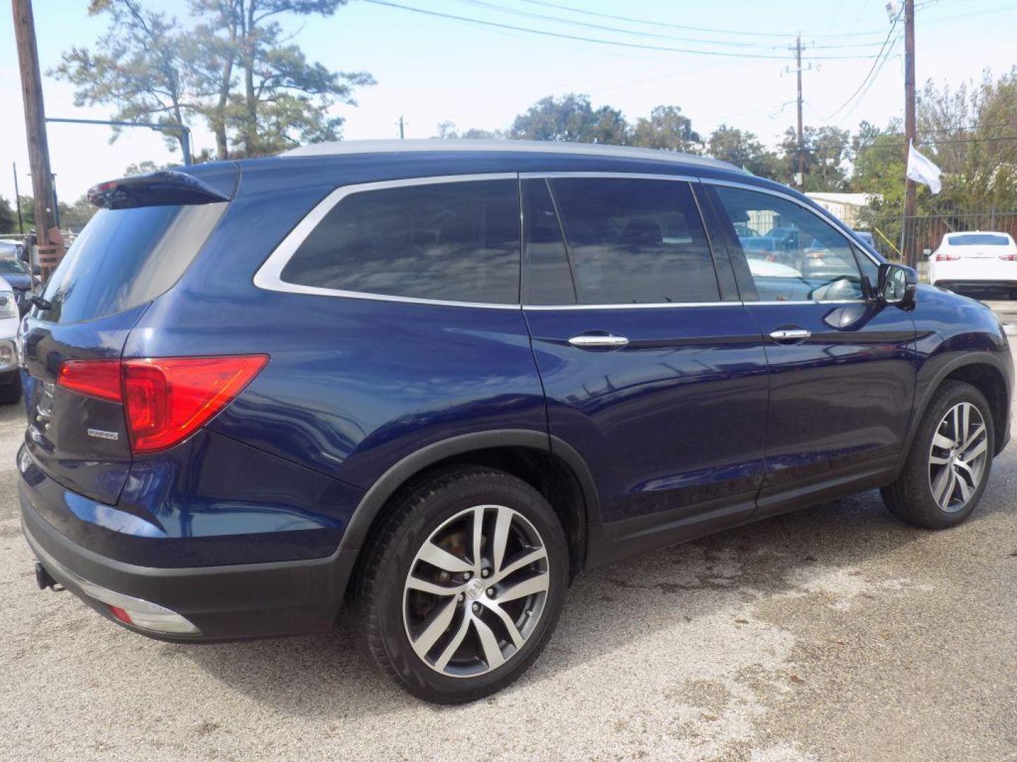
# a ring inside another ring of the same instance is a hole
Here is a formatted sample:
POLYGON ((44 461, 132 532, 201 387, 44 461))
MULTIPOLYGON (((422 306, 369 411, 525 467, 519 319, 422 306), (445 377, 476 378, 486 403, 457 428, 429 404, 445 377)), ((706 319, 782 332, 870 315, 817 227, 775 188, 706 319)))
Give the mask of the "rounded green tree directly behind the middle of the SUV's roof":
POLYGON ((629 125, 621 112, 609 106, 594 109, 589 96, 569 93, 541 99, 516 117, 508 137, 527 140, 563 140, 581 143, 629 143, 629 125))

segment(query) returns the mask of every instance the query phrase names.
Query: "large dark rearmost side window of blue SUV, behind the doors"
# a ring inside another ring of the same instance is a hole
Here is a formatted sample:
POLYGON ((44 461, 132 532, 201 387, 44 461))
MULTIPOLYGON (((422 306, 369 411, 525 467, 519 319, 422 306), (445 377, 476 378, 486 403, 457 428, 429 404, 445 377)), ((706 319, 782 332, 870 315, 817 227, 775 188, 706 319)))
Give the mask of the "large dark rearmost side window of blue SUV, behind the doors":
POLYGON ((519 304, 515 180, 353 193, 283 268, 301 285, 452 302, 519 304))

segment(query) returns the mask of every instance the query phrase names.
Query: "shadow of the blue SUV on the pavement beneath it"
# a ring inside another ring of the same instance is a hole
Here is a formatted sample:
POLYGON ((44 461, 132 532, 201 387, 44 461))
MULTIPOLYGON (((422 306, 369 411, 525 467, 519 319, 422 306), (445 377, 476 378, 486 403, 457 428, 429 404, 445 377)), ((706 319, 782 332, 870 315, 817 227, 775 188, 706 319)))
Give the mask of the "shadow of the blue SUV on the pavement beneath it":
MULTIPOLYGON (((995 487, 972 520, 954 531, 1013 510, 1005 487, 999 481, 995 487)), ((553 680, 662 629, 800 591, 796 580, 811 570, 852 568, 931 536, 895 519, 879 493, 869 492, 587 572, 570 589, 545 652, 507 690, 553 680)), ((421 706, 360 655, 343 615, 327 636, 161 647, 286 714, 342 720, 421 706)))

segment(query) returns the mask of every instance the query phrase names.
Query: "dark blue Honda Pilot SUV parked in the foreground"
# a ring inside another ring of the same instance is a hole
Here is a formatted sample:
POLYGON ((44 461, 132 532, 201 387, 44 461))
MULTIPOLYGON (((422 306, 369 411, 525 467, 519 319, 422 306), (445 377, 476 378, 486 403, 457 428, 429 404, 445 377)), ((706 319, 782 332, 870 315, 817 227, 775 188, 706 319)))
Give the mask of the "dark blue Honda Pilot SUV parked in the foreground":
POLYGON ((1010 436, 985 307, 720 162, 320 144, 91 197, 20 328, 24 535, 155 638, 350 618, 469 701, 584 569, 874 488, 953 526, 1010 436), (839 271, 750 267, 774 229, 839 271))

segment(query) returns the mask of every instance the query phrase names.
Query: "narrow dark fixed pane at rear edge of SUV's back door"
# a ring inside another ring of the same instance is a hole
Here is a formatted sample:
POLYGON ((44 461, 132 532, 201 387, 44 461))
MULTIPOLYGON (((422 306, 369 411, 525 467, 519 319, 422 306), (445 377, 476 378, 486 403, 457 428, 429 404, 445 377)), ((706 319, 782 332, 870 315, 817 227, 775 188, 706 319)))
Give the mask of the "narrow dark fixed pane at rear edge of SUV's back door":
POLYGON ((523 181, 523 304, 576 304, 569 255, 547 181, 523 181))

